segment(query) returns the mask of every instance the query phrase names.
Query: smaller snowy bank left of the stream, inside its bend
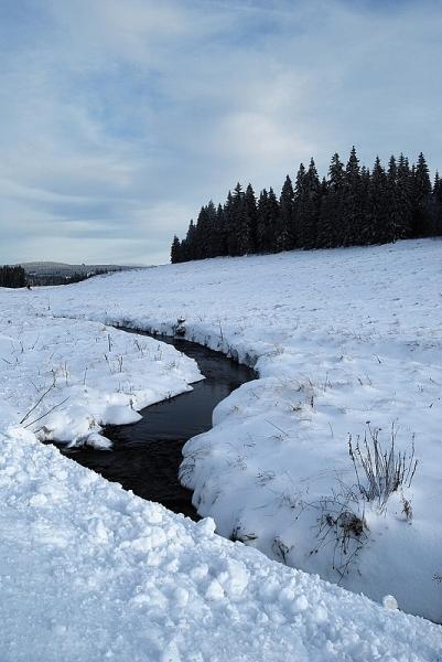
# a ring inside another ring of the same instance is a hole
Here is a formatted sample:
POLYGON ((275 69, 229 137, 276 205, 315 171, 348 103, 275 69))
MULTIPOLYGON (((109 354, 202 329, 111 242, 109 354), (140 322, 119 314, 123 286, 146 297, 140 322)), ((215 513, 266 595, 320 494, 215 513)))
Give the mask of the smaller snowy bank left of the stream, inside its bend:
POLYGON ((202 378, 170 345, 97 322, 23 314, 24 303, 2 292, 1 429, 22 421, 40 439, 107 448, 101 426, 133 423, 139 409, 202 378))

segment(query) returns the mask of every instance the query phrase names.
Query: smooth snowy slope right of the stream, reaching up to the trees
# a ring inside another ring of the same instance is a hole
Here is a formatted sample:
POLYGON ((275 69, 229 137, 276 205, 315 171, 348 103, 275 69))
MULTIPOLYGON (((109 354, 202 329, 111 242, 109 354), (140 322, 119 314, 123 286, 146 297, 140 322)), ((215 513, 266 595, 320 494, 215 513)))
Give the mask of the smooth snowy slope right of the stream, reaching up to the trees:
POLYGON ((224 258, 14 298, 42 314, 164 331, 185 319, 187 338, 256 362, 261 378, 186 446, 200 513, 270 556, 441 621, 441 255, 440 241, 420 241, 224 258), (414 438, 419 460, 381 513, 352 496, 348 438, 367 421, 385 449, 392 425, 398 449, 414 438), (366 524, 347 554, 343 512, 366 524))

